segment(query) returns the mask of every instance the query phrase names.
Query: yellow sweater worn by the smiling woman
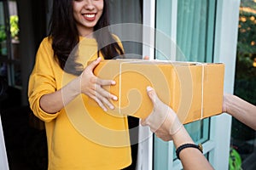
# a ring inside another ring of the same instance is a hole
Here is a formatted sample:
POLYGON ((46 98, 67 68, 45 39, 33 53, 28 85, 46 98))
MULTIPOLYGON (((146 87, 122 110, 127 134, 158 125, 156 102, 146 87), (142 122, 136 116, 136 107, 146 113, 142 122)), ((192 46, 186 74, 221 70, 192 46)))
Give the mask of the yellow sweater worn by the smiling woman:
MULTIPOLYGON (((84 66, 96 59, 95 39, 80 39, 79 59, 84 66)), ((44 112, 39 99, 53 93, 75 76, 67 74, 53 58, 51 40, 44 38, 38 48, 29 79, 28 97, 35 116, 45 122, 49 170, 116 170, 131 164, 127 117, 102 111, 80 94, 55 114, 44 112)))

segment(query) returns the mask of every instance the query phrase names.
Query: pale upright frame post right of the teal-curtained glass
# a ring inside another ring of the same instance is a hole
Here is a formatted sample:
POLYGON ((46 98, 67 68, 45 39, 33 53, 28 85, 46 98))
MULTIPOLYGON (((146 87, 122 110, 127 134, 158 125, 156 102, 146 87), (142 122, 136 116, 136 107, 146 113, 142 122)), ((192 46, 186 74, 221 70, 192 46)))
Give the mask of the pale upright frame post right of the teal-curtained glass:
MULTIPOLYGON (((224 93, 233 94, 240 0, 218 0, 217 6, 214 62, 224 63, 224 93)), ((210 162, 215 169, 228 169, 231 116, 213 116, 212 126, 210 138, 215 146, 210 153, 210 162)))

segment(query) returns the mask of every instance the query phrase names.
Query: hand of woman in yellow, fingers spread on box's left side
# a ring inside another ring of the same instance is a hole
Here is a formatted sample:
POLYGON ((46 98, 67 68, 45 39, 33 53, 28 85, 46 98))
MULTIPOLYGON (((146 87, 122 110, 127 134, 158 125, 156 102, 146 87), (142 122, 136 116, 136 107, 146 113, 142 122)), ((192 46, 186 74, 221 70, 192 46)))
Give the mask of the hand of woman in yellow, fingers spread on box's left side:
POLYGON ((106 106, 110 109, 114 109, 110 100, 117 100, 118 98, 102 88, 102 86, 115 85, 115 82, 113 80, 102 80, 96 77, 93 73, 94 68, 100 63, 100 61, 101 58, 99 57, 88 65, 82 72, 80 76, 81 93, 86 94, 91 99, 94 99, 102 110, 107 111, 106 106))

